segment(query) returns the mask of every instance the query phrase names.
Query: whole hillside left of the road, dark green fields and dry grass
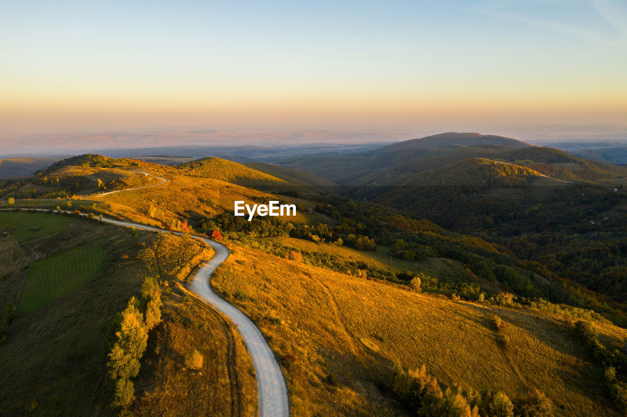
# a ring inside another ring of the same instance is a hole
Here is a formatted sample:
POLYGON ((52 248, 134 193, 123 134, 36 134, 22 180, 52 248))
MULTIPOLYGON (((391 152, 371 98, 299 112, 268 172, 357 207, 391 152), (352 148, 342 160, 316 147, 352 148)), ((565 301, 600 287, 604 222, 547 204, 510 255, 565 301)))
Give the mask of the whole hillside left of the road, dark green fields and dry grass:
POLYGON ((146 275, 161 279, 163 321, 149 334, 132 410, 152 414, 156 398, 176 415, 256 413, 241 339, 180 286, 211 256, 197 240, 24 212, 0 212, 0 230, 6 232, 0 236, 3 316, 8 302, 18 310, 0 342, 1 415, 116 415, 107 331, 130 297, 139 296, 146 275), (29 287, 33 278, 38 291, 29 287), (200 372, 183 369, 181 358, 192 348, 204 356, 200 372))

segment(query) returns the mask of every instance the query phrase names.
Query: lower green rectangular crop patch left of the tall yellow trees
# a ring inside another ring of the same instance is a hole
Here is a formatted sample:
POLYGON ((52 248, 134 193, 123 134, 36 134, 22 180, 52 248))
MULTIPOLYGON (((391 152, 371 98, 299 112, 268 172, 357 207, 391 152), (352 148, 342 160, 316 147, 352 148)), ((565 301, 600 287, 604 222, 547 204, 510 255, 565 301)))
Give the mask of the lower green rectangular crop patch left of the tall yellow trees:
POLYGON ((108 253, 99 243, 95 240, 33 262, 19 298, 19 314, 41 307, 95 279, 108 253))

